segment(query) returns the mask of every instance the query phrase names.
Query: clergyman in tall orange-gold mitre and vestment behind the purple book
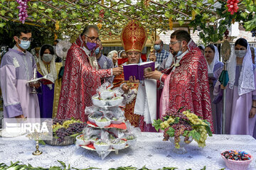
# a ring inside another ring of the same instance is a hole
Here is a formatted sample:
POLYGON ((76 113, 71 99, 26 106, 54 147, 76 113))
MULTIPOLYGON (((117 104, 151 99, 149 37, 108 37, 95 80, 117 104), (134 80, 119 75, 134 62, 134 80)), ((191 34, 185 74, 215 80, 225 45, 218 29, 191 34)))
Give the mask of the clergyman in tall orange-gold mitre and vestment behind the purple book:
MULTIPOLYGON (((137 21, 129 21, 124 26, 121 34, 121 41, 125 52, 127 53, 127 64, 137 64, 141 60, 142 50, 146 43, 146 30, 141 23, 137 21)), ((139 127, 143 131, 143 118, 141 115, 134 114, 134 106, 137 97, 138 83, 124 81, 124 74, 114 77, 114 87, 121 86, 124 90, 124 98, 126 106, 124 108, 124 116, 134 127, 139 127)))

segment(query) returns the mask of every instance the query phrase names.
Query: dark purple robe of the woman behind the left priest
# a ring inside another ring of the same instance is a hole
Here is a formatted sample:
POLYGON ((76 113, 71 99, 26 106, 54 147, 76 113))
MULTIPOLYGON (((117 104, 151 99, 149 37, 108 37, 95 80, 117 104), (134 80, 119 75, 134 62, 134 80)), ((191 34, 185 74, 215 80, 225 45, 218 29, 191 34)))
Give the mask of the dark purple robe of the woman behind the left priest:
MULTIPOLYGON (((37 72, 37 75, 38 78, 43 77, 39 72, 37 72)), ((47 85, 41 84, 42 92, 38 93, 41 118, 53 117, 54 84, 51 85, 53 86, 53 89, 50 90, 47 85)))

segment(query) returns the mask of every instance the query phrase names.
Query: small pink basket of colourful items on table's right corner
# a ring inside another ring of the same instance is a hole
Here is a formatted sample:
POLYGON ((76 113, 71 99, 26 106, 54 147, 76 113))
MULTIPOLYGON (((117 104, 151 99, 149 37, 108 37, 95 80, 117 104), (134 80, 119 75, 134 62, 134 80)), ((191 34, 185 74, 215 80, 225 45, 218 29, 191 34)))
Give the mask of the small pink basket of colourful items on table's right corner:
POLYGON ((222 152, 221 157, 228 169, 231 170, 246 170, 252 162, 252 155, 237 150, 222 152))

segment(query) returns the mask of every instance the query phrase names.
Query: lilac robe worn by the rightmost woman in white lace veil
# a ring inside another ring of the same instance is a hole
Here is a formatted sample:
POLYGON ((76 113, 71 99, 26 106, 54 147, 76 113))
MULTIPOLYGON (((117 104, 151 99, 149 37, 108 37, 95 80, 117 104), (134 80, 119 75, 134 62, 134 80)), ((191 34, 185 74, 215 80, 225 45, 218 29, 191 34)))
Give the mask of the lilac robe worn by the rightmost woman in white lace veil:
MULTIPOLYGON (((226 86, 225 133, 230 135, 252 135, 255 127, 256 116, 249 118, 249 115, 252 100, 256 100, 256 90, 241 96, 238 95, 238 79, 241 67, 240 65, 236 66, 234 88, 230 89, 229 84, 226 86)), ((254 69, 254 76, 256 80, 256 69, 254 69)), ((220 89, 220 81, 215 84, 213 94, 215 95, 215 103, 223 102, 223 90, 220 89)))

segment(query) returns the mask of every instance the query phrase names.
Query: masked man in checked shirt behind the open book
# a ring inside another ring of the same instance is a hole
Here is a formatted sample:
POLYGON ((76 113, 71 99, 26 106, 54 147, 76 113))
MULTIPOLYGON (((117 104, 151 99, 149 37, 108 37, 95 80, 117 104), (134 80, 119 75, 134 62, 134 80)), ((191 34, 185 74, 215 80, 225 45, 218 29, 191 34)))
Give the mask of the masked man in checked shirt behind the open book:
POLYGON ((156 42, 154 42, 154 52, 151 52, 148 57, 148 61, 151 60, 156 62, 156 65, 158 67, 169 56, 169 52, 166 50, 163 50, 163 47, 164 47, 163 41, 156 40, 156 42))

